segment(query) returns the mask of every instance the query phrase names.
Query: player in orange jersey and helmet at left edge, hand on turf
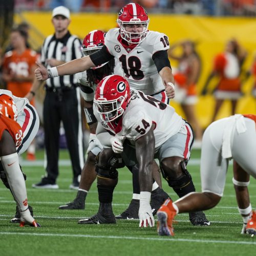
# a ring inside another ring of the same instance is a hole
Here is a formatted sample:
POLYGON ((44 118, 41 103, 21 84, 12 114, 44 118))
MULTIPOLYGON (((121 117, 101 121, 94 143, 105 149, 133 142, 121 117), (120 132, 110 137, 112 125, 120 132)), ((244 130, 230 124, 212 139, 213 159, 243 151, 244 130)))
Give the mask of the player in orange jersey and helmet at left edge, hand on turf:
POLYGON ((22 127, 16 122, 18 115, 17 106, 13 99, 6 95, 0 95, 0 157, 7 180, 20 212, 20 226, 28 224, 38 227, 31 216, 27 190, 22 170, 20 170, 16 147, 22 144, 22 127))

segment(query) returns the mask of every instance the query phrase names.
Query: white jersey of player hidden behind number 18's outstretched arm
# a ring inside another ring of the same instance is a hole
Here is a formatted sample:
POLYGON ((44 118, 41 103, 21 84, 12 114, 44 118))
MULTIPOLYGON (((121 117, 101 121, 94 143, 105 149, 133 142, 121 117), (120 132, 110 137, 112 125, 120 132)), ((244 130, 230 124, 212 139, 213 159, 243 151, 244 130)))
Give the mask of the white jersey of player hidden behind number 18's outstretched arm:
MULTIPOLYGON (((114 74, 120 75, 120 76, 124 75, 122 68, 120 67, 117 59, 115 59, 114 74)), ((87 80, 87 72, 86 71, 76 73, 75 75, 76 75, 76 79, 78 80, 79 83, 81 83, 83 86, 90 87, 93 90, 92 93, 84 93, 82 90, 80 90, 80 93, 81 93, 83 99, 86 101, 93 101, 97 84, 94 84, 93 87, 91 87, 91 85, 89 84, 89 82, 87 80)))

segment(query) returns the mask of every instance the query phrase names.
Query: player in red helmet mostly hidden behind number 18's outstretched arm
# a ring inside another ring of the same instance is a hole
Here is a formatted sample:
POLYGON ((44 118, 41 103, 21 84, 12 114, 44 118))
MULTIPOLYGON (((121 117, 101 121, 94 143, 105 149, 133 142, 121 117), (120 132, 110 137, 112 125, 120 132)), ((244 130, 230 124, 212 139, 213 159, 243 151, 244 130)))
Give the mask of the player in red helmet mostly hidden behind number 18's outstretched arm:
MULTIPOLYGON (((101 30, 91 31, 83 39, 82 43, 82 54, 87 56, 92 54, 95 51, 98 51, 104 46, 105 33, 101 30)), ((122 75, 121 67, 119 63, 115 65, 115 59, 111 59, 109 62, 103 63, 100 66, 91 68, 86 72, 81 72, 77 74, 77 78, 80 84, 81 94, 84 99, 87 123, 90 129, 90 139, 88 147, 88 157, 86 164, 83 167, 81 180, 79 184, 79 189, 76 198, 74 201, 59 206, 59 209, 84 209, 85 200, 88 194, 88 191, 96 179, 95 172, 95 158, 102 150, 103 146, 96 138, 96 127, 97 119, 93 114, 93 99, 95 95, 95 90, 97 84, 100 80, 111 74, 120 74, 122 75)), ((158 169, 158 168, 157 168, 158 169)), ((139 207, 139 181, 138 181, 138 169, 131 169, 133 173, 133 199, 129 205, 129 209, 117 216, 117 219, 121 218, 136 218, 138 219, 138 207, 139 207), (136 182, 137 181, 137 182, 136 182)), ((168 198, 168 195, 158 187, 157 183, 154 184, 154 189, 152 191, 152 207, 155 209, 154 214, 159 209, 164 200, 168 198)), ((83 220, 78 221, 79 224, 83 224, 83 220)))

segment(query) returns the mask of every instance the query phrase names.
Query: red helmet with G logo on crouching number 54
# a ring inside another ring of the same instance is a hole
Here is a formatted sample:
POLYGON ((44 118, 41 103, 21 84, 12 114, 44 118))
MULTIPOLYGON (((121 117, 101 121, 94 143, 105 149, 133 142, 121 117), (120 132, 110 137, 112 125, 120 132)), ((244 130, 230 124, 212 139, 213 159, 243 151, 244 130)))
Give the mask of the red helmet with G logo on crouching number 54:
POLYGON ((121 116, 131 99, 129 83, 122 76, 104 77, 95 90, 94 103, 103 121, 111 122, 121 116))

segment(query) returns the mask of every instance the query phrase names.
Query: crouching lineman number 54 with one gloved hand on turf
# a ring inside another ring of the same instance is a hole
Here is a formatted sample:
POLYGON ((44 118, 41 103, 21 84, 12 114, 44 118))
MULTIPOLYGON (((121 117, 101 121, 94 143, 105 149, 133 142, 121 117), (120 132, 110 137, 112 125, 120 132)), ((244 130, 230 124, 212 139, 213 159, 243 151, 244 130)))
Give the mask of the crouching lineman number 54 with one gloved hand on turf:
POLYGON ((176 192, 185 195, 187 189, 195 191, 186 170, 194 140, 190 125, 171 106, 130 90, 127 80, 118 75, 107 76, 98 84, 94 114, 98 120, 97 138, 104 146, 96 166, 100 206, 97 214, 84 223, 116 223, 112 198, 120 154, 126 166, 139 164, 140 226, 154 226, 150 205, 154 157, 176 192))

